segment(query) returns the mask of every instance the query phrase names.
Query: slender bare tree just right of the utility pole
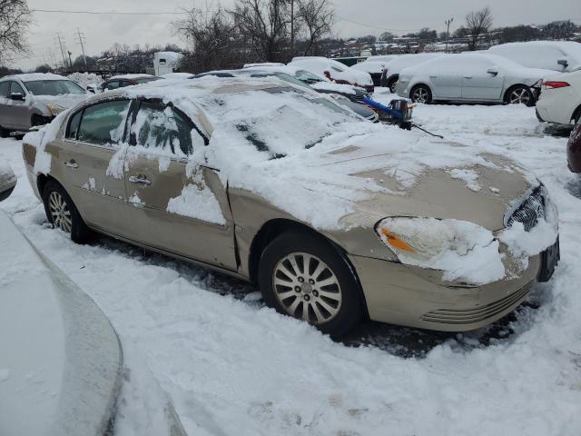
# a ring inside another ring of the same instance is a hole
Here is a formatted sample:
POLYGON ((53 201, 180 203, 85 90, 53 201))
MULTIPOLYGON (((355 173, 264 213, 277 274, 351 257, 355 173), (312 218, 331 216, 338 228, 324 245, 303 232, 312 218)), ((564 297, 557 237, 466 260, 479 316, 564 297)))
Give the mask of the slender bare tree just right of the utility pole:
POLYGON ((303 55, 315 54, 320 41, 331 33, 333 10, 329 0, 298 0, 298 6, 296 19, 305 34, 303 55))

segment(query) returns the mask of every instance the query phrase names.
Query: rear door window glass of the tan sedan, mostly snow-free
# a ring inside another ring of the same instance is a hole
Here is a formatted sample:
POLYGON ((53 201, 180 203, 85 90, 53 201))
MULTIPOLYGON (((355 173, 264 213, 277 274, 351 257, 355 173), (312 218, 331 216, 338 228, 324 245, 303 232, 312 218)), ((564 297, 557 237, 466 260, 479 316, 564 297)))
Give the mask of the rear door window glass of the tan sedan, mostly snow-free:
POLYGON ((123 139, 129 100, 115 100, 84 108, 78 140, 84 143, 118 144, 123 139))

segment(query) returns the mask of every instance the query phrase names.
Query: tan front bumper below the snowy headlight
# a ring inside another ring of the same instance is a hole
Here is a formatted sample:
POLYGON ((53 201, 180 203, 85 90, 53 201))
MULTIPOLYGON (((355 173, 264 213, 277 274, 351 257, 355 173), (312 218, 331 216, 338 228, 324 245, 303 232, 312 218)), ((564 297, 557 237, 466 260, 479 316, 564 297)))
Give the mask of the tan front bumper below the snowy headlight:
POLYGON ((466 332, 495 322, 525 300, 537 282, 541 255, 520 277, 478 287, 449 286, 437 271, 352 256, 367 302, 378 322, 442 332, 466 332))

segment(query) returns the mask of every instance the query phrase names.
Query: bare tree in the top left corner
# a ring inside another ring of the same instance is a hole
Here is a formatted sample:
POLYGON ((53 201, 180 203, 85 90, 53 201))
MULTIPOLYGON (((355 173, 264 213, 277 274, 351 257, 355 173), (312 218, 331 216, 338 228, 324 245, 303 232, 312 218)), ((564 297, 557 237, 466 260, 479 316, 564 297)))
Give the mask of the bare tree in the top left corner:
POLYGON ((25 32, 31 17, 26 0, 0 0, 0 64, 25 53, 25 32))

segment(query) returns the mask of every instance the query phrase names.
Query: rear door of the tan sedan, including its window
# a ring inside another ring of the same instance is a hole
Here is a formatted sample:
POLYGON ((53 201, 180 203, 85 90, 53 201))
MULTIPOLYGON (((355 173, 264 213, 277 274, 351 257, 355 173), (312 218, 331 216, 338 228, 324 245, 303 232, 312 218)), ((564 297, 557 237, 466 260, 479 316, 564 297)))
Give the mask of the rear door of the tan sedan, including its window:
POLYGON ((84 221, 105 232, 128 233, 123 177, 123 134, 131 102, 110 100, 76 112, 68 120, 59 151, 59 181, 84 221))

